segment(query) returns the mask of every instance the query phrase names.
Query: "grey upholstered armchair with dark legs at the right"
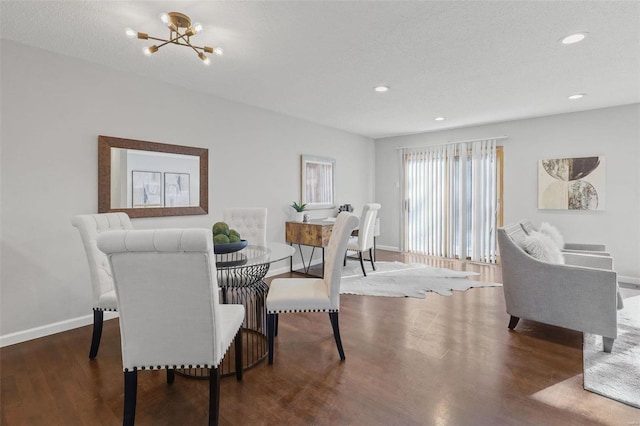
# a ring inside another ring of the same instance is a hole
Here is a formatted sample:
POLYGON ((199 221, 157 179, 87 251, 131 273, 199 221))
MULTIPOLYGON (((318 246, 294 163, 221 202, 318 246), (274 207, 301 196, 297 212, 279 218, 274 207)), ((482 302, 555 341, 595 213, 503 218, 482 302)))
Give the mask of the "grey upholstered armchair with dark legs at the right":
POLYGON ((602 336, 611 352, 618 335, 618 284, 609 256, 563 253, 565 264, 544 262, 523 249, 520 224, 498 229, 504 298, 511 315, 602 336))

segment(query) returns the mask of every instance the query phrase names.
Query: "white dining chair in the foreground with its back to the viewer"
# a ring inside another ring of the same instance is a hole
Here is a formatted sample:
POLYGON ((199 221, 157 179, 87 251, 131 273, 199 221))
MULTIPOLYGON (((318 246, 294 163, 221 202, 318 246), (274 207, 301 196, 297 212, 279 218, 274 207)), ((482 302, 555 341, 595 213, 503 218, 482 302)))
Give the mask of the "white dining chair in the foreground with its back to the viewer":
POLYGON ((218 303, 213 236, 209 229, 103 233, 120 311, 124 421, 135 419, 138 370, 209 369, 209 424, 218 424, 220 370, 235 340, 242 380, 244 306, 218 303))

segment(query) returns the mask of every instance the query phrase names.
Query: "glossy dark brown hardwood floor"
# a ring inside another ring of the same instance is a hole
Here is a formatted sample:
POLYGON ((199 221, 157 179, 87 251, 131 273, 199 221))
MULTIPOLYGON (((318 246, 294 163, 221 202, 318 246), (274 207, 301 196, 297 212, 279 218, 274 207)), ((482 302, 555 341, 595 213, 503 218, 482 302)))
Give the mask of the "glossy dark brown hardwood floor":
MULTIPOLYGON (((407 257, 481 272, 499 267, 407 257)), ((640 410, 582 388, 582 334, 531 321, 507 329, 502 289, 425 300, 343 295, 341 362, 326 314, 280 316, 275 361, 223 378, 221 425, 640 425, 640 410)), ((0 349, 2 425, 122 423, 117 320, 97 359, 89 326, 0 349)), ((177 345, 180 342, 175 342, 177 345)), ((138 425, 204 425, 206 381, 138 374, 138 425)))

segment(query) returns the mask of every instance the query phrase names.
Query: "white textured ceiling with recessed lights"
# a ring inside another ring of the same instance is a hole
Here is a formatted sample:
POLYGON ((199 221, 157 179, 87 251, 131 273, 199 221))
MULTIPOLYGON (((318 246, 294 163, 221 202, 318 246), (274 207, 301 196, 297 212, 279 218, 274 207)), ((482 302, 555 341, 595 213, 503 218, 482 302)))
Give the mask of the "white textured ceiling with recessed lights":
POLYGON ((373 138, 640 102, 638 1, 2 0, 0 12, 4 39, 373 138), (167 37, 168 11, 201 22, 192 41, 224 56, 146 57, 151 42, 125 37, 167 37), (558 42, 574 32, 589 36, 558 42))

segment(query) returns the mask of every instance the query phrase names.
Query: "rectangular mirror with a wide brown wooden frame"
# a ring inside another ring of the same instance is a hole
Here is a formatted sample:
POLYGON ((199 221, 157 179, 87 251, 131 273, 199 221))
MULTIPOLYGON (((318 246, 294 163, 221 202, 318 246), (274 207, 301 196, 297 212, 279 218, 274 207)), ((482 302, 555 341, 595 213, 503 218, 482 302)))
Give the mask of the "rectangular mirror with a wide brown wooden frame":
POLYGON ((98 136, 98 213, 131 218, 209 212, 209 150, 98 136))

